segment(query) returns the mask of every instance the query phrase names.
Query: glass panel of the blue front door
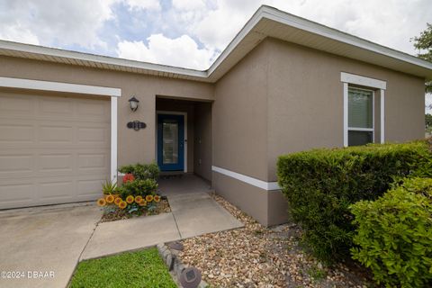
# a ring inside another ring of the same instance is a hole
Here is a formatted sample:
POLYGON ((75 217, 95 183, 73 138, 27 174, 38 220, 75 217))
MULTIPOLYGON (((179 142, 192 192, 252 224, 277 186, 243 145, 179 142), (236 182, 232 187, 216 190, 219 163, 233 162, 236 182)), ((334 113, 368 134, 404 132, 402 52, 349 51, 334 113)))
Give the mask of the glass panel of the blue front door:
POLYGON ((178 122, 175 120, 162 123, 162 161, 163 164, 178 163, 178 122))

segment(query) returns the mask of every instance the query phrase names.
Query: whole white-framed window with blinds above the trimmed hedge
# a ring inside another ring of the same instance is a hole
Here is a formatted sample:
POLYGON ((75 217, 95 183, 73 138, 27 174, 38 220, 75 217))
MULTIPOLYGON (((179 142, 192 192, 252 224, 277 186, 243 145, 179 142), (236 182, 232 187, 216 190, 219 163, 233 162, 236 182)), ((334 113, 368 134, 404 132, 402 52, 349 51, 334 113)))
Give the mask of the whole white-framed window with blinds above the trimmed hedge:
POLYGON ((348 146, 374 142, 374 91, 348 87, 348 146))

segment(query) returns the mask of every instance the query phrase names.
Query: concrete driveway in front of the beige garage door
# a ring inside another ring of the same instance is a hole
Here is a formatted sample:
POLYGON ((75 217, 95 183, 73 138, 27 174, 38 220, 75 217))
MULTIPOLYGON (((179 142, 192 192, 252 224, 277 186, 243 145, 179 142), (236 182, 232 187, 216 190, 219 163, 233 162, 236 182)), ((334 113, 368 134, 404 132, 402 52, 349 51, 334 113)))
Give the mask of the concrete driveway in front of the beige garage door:
POLYGON ((66 287, 101 216, 94 205, 1 211, 0 287, 66 287))

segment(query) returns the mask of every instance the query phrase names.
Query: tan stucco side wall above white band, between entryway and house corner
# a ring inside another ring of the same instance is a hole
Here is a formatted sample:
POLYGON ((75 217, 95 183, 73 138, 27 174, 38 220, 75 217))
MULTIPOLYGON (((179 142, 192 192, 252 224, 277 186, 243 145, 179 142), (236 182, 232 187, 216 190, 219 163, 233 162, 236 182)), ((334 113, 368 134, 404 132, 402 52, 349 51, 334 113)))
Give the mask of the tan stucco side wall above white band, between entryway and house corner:
POLYGON ((267 178, 268 49, 252 50, 215 86, 213 165, 267 178))

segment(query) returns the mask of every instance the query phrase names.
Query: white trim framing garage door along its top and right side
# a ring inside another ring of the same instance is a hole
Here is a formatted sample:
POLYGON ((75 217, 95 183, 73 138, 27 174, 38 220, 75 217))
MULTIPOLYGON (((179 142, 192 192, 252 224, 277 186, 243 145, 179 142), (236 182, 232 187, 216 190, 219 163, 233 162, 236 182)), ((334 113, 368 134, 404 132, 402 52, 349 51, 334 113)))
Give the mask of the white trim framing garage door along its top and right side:
POLYGON ((111 180, 117 180, 117 97, 121 97, 120 88, 80 85, 63 82, 31 80, 23 78, 0 77, 0 87, 52 91, 71 94, 109 96, 111 98, 111 180))

